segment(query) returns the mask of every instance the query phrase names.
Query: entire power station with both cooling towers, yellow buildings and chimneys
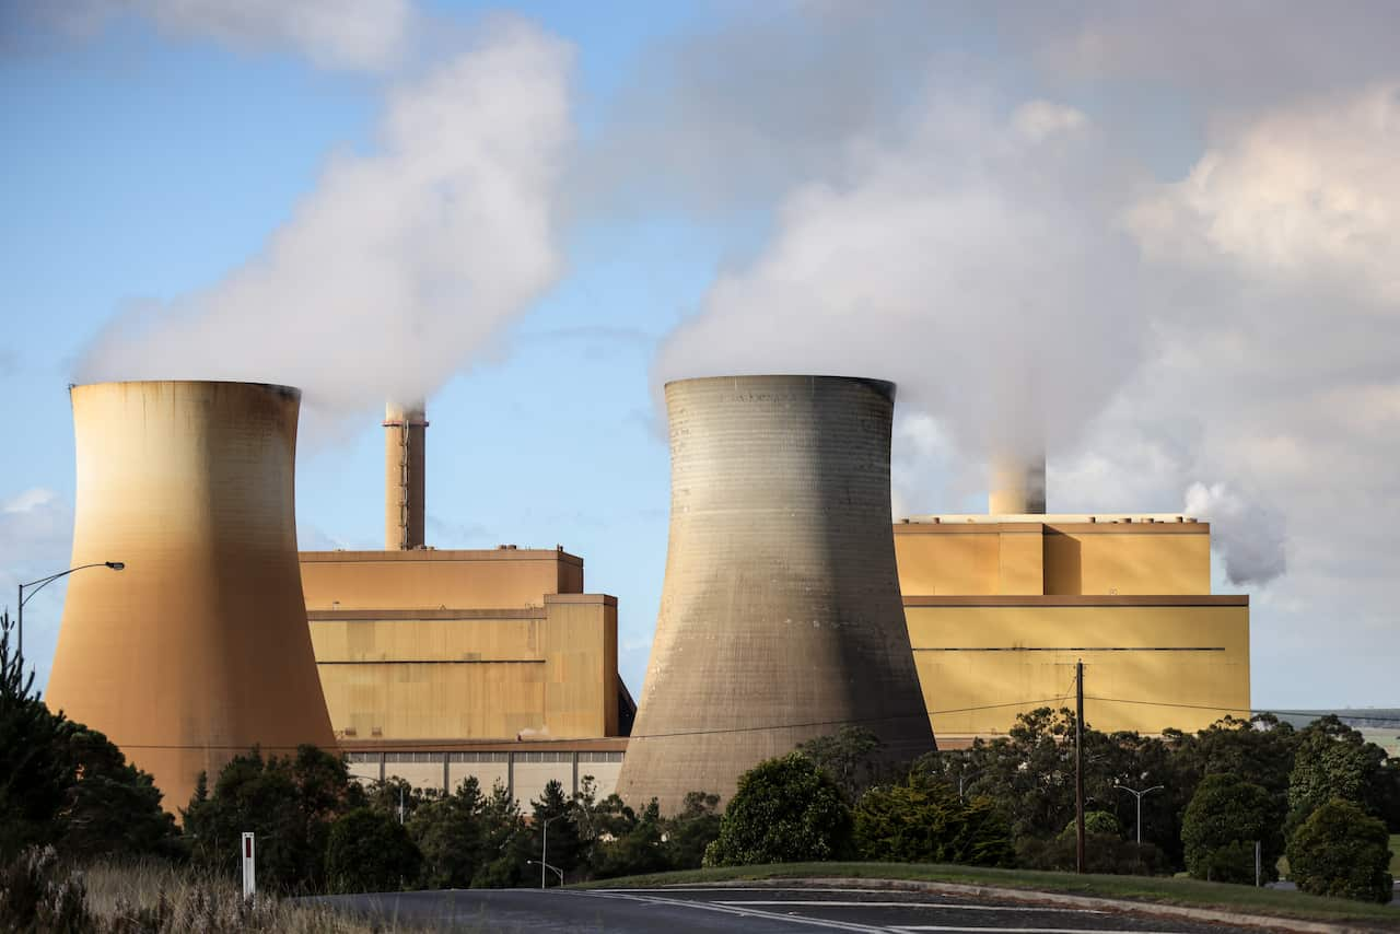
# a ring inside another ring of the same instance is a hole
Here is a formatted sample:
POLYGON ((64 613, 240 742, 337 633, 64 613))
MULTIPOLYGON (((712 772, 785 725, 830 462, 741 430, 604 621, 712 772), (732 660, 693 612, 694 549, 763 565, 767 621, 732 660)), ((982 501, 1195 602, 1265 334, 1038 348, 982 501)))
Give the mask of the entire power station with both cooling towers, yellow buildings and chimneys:
POLYGON ((49 703, 171 809, 238 752, 311 742, 370 780, 476 776, 528 802, 592 776, 673 811, 843 725, 895 759, 1002 735, 1065 703, 1081 660, 1099 730, 1247 711, 1249 599, 1211 595, 1208 524, 1049 515, 1044 458, 1022 451, 993 459, 987 515, 890 531, 892 384, 665 396, 671 539, 638 710, 617 601, 584 592, 581 557, 426 545, 421 403, 385 413, 385 549, 298 555, 298 391, 74 386, 73 563, 126 570, 73 578, 49 703))

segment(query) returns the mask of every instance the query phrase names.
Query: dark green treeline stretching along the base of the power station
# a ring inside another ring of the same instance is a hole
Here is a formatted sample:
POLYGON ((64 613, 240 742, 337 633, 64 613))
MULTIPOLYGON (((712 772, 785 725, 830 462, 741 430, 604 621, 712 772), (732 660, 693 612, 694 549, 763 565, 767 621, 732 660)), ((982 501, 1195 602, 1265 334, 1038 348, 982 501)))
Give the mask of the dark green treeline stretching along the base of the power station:
MULTIPOLYGON (((1036 710, 1005 737, 900 765, 874 734, 846 728, 759 763, 722 814, 715 795, 696 791, 662 815, 655 801, 599 797, 587 777, 577 794, 550 783, 522 811, 475 779, 451 794, 402 780, 363 786, 312 746, 252 751, 200 780, 176 828, 150 776, 101 734, 49 711, 21 669, 0 619, 0 860, 10 867, 148 856, 234 878, 245 830, 258 835, 259 886, 287 893, 843 858, 1075 865, 1068 710, 1036 710), (36 863, 35 847, 53 856, 36 863)), ((1226 718, 1162 737, 1086 725, 1084 744, 1091 871, 1253 884, 1257 842, 1267 881, 1287 854, 1305 891, 1390 898, 1400 763, 1336 717, 1302 730, 1226 718), (1123 788, 1158 786, 1142 800, 1140 844, 1137 800, 1123 788)), ((32 884, 25 872, 0 875, 0 921, 7 892, 32 884)))

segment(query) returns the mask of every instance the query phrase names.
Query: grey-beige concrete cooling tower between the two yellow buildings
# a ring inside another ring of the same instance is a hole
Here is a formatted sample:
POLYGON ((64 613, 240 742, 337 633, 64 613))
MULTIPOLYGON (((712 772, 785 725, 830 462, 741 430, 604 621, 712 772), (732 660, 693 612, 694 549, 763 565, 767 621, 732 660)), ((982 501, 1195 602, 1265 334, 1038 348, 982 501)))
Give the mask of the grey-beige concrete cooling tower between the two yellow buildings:
POLYGON ((890 531, 895 386, 840 377, 666 385, 671 543, 617 793, 734 794, 843 725, 932 749, 890 531))

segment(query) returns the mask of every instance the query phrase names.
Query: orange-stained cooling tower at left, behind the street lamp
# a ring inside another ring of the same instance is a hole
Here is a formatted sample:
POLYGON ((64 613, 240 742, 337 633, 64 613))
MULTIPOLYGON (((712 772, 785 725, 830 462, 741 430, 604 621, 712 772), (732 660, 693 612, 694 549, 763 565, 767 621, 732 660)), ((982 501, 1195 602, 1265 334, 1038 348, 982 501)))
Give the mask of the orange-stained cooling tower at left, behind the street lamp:
POLYGON ((301 393, 251 382, 74 386, 74 574, 48 702, 155 777, 169 811, 238 752, 333 749, 301 595, 301 393))

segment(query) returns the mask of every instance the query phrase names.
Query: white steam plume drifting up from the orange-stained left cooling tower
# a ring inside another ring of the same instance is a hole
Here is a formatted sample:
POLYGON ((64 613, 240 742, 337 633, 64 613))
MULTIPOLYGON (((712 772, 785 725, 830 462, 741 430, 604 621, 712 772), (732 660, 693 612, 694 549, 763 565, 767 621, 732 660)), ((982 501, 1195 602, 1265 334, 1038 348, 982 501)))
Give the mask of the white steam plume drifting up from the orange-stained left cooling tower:
POLYGON ((419 399, 559 276, 570 49, 521 22, 391 92, 377 151, 330 160, 253 260, 119 315, 80 381, 301 386, 321 409, 419 399))

